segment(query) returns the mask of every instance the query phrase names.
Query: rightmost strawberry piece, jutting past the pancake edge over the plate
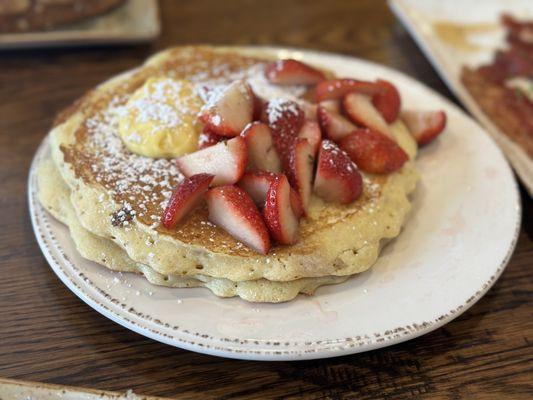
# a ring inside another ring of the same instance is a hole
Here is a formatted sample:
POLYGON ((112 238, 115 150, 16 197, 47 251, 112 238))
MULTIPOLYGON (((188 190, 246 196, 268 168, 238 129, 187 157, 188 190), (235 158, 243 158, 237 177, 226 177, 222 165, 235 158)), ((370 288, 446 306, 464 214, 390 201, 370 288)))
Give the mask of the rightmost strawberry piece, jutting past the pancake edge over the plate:
POLYGON ((419 146, 428 144, 446 127, 444 111, 406 110, 402 120, 419 146))

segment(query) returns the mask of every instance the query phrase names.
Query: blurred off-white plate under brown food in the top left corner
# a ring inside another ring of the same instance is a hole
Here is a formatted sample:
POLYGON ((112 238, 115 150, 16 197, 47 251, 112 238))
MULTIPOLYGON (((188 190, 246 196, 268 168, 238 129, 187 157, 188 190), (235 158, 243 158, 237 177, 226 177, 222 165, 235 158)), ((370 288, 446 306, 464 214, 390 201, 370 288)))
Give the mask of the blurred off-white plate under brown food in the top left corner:
POLYGON ((0 50, 146 42, 160 30, 157 0, 128 0, 108 13, 54 30, 2 33, 0 50))

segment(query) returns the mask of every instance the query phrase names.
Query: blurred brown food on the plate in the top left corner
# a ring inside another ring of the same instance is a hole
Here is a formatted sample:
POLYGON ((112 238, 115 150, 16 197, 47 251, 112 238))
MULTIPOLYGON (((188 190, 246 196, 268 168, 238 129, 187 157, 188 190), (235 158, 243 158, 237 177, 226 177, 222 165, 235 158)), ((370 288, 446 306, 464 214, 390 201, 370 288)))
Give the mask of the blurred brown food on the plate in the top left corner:
POLYGON ((53 29, 105 13, 125 0, 0 0, 0 33, 53 29))

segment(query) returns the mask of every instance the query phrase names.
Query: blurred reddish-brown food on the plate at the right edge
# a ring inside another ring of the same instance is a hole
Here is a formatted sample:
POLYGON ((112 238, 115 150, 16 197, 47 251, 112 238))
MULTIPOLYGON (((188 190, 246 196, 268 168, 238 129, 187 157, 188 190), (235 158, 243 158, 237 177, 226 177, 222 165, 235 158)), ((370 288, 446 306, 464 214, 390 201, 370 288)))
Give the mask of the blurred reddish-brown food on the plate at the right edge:
POLYGON ((464 67, 461 80, 501 132, 533 158, 533 22, 502 16, 509 47, 490 64, 464 67))

